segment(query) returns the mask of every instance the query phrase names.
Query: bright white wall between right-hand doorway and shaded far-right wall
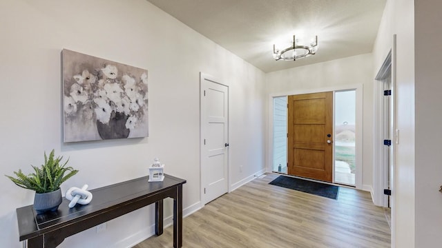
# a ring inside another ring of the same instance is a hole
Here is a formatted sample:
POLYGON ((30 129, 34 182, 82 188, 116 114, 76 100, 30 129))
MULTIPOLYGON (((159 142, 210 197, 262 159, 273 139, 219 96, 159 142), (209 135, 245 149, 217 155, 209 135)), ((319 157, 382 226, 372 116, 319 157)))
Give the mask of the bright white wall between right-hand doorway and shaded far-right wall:
MULTIPOLYGON (((437 7, 432 7, 434 11, 437 7)), ((423 12, 426 14, 426 12, 423 12)), ((414 96, 414 1, 413 0, 395 0, 387 1, 384 10, 383 20, 378 31, 378 37, 374 45, 374 72, 376 75, 379 68, 392 48, 393 34, 397 34, 396 49, 396 103, 397 119, 396 125, 399 130, 399 143, 396 145, 396 173, 394 174, 395 183, 392 189, 394 203, 392 206, 392 247, 436 247, 440 242, 433 245, 415 244, 416 229, 415 218, 419 219, 421 213, 415 207, 416 196, 415 185, 417 181, 414 178, 415 165, 414 150, 418 147, 414 143, 414 105, 423 99, 416 99, 414 96)), ((425 37, 423 39, 430 39, 425 37)), ((423 48, 427 49, 427 48, 423 48)), ((423 96, 425 98, 425 96, 423 96)), ((417 113, 417 109, 416 109, 417 113)), ((426 116, 430 117, 430 116, 426 116)), ((417 119, 417 118, 416 118, 417 119)), ((429 118, 425 118, 425 121, 429 118)), ((431 121, 429 121, 431 122, 431 121)), ((424 132, 428 132, 425 129, 424 132)), ((417 133, 416 129, 416 133, 417 133)), ((432 138, 434 138, 432 132, 432 138)), ((436 140, 434 140, 436 141, 436 140)), ((419 164, 419 167, 422 165, 419 164)), ((428 172, 434 173, 434 170, 428 172)), ((417 188, 416 188, 417 189, 417 188)), ((437 189, 437 187, 436 187, 437 189)), ((419 194, 422 194, 420 192, 419 194)), ((423 203, 427 204, 427 202, 423 203)), ((433 216, 434 221, 440 220, 433 216)), ((425 231, 432 227, 426 226, 425 231)), ((441 229, 439 229, 439 232, 441 229)))

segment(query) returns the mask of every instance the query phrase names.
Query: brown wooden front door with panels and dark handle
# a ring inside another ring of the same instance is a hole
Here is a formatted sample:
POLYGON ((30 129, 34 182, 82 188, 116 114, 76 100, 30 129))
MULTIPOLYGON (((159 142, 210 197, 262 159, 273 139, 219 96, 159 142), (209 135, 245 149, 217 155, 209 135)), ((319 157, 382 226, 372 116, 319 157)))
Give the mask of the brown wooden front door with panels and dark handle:
POLYGON ((288 174, 332 182, 333 92, 288 101, 288 174))

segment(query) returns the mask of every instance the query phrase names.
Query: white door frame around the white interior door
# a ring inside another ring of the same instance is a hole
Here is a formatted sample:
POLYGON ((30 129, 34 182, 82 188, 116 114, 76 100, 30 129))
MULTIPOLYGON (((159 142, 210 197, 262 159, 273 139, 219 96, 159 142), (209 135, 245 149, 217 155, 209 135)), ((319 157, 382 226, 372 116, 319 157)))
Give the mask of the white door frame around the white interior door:
MULTIPOLYGON (((202 87, 202 82, 204 80, 211 81, 212 83, 218 83, 219 85, 223 85, 227 87, 227 108, 229 109, 229 85, 225 85, 224 83, 220 83, 220 81, 215 78, 214 76, 211 76, 210 74, 206 74, 204 72, 200 72, 200 207, 204 207, 203 199, 204 199, 204 185, 203 185, 203 178, 202 178, 202 161, 203 161, 203 152, 202 149, 204 147, 204 137, 202 135, 203 131, 203 120, 202 120, 202 97, 204 96, 204 88, 202 87)), ((227 143, 229 143, 230 140, 230 126, 229 126, 229 119, 230 119, 230 111, 227 113, 227 143)), ((231 169, 230 169, 230 156, 229 156, 229 149, 226 150, 227 152, 227 193, 231 192, 231 169)))

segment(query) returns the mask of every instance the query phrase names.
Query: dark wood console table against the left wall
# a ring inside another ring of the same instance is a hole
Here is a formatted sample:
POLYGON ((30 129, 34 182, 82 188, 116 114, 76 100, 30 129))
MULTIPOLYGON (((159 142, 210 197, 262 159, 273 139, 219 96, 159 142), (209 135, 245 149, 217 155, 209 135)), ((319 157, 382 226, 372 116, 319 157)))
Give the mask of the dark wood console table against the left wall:
POLYGON ((186 180, 165 174, 162 182, 148 183, 148 176, 91 189, 88 205, 68 207, 37 215, 32 205, 17 209, 20 241, 29 248, 57 247, 64 238, 155 203, 155 234, 163 233, 163 200, 173 198, 173 247, 182 247, 182 185, 186 180))

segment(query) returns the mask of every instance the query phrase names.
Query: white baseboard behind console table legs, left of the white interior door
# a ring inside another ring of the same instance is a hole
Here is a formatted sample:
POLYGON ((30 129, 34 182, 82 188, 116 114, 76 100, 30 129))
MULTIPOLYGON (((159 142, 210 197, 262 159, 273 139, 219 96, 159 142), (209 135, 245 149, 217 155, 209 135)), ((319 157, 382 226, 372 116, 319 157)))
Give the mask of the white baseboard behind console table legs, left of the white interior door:
MULTIPOLYGON (((182 210, 182 216, 183 218, 186 218, 187 216, 195 213, 195 211, 198 211, 201 209, 201 203, 194 203, 193 205, 186 207, 182 210)), ((163 228, 166 229, 167 227, 173 225, 173 216, 168 216, 164 218, 163 220, 163 228)), ((147 238, 150 238, 151 236, 155 235, 155 223, 153 225, 150 225, 144 229, 141 229, 140 231, 137 231, 137 233, 128 236, 124 238, 123 240, 117 242, 115 244, 115 247, 127 247, 131 248, 135 245, 139 244, 143 240, 146 240, 147 238)))

